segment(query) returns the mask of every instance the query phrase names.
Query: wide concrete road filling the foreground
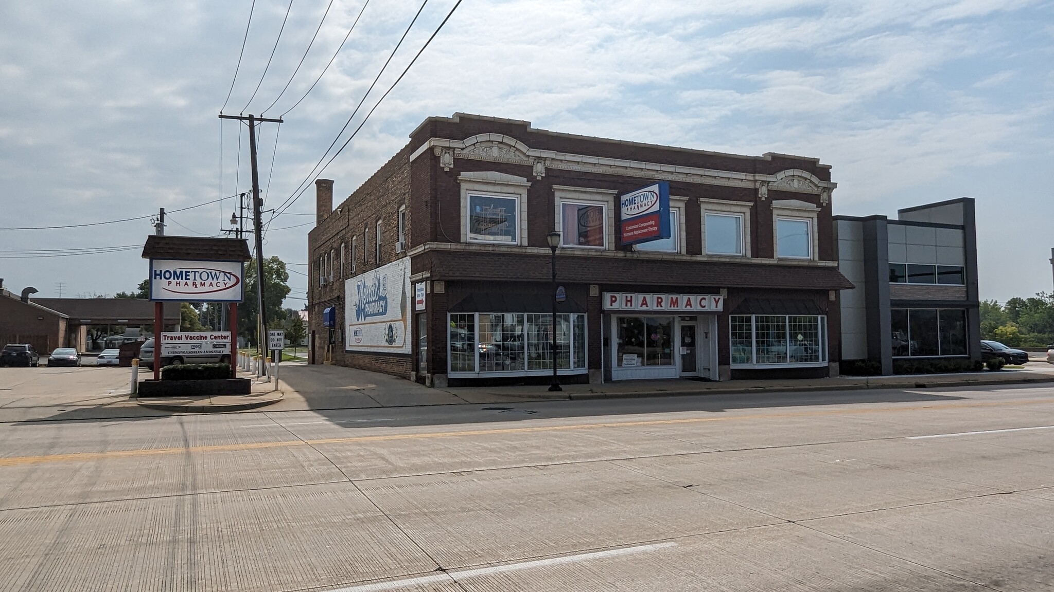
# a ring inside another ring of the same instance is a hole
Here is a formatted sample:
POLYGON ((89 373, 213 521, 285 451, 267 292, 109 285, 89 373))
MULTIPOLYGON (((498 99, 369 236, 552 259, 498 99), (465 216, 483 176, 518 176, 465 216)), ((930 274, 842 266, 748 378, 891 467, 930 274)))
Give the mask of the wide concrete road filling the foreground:
POLYGON ((5 591, 1054 590, 1050 388, 14 421, 0 442, 5 591))

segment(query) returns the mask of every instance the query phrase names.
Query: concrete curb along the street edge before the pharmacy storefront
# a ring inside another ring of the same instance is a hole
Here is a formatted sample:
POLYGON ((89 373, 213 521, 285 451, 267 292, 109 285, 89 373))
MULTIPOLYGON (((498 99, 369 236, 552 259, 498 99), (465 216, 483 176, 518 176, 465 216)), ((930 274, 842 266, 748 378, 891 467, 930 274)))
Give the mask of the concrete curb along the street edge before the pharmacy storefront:
MULTIPOLYGON (((553 396, 552 393, 546 394, 533 394, 533 393, 518 393, 515 395, 522 398, 539 399, 539 400, 590 400, 590 399, 627 399, 627 398, 643 398, 643 397, 679 397, 679 396, 689 396, 689 395, 745 395, 755 393, 805 393, 805 392, 823 392, 823 391, 867 391, 867 390, 880 390, 880 389, 938 389, 944 387, 998 387, 1002 384, 1028 384, 1032 382, 1054 382, 1054 375, 1049 376, 1037 376, 1029 378, 1008 378, 1004 380, 949 380, 934 382, 932 380, 925 380, 924 376, 918 377, 914 380, 902 380, 897 382, 856 382, 847 384, 820 384, 820 386, 803 386, 803 387, 756 387, 750 389, 695 389, 695 390, 677 390, 677 391, 631 391, 631 392, 614 392, 614 393, 568 393, 560 397, 553 396)), ((501 394, 501 393, 492 393, 501 394)))

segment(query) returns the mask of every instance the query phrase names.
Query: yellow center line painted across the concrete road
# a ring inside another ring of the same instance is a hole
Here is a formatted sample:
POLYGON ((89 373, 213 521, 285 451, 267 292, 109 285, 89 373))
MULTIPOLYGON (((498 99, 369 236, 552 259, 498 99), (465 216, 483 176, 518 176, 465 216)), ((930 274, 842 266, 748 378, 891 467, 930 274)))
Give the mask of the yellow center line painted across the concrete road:
POLYGON ((376 434, 371 436, 316 438, 310 440, 297 439, 297 440, 276 440, 270 442, 243 442, 243 443, 231 443, 231 445, 192 446, 192 447, 180 447, 180 448, 112 450, 105 452, 76 452, 69 454, 47 454, 41 456, 13 456, 8 458, 0 458, 0 467, 16 467, 20 465, 35 465, 40 462, 64 462, 64 461, 101 460, 110 458, 133 458, 140 456, 186 454, 188 452, 193 452, 193 453, 232 452, 232 451, 243 451, 243 450, 260 450, 268 448, 285 448, 294 446, 317 446, 317 445, 348 443, 348 442, 377 442, 377 441, 429 439, 429 438, 455 438, 465 436, 488 436, 488 435, 500 435, 500 434, 529 434, 534 432, 561 432, 568 430, 588 430, 597 428, 677 426, 686 423, 704 423, 708 421, 738 421, 744 419, 778 419, 787 417, 822 417, 831 415, 899 413, 905 411, 922 411, 922 410, 1012 407, 1021 404, 1037 404, 1037 403, 1051 403, 1051 402, 1054 402, 1054 398, 1026 399, 1026 400, 1018 399, 1018 400, 1003 400, 1003 401, 943 402, 937 404, 915 404, 915 406, 904 406, 904 407, 829 409, 823 411, 798 411, 798 412, 783 412, 783 413, 759 413, 759 414, 748 414, 748 415, 725 415, 720 417, 687 417, 682 419, 644 419, 639 421, 608 421, 602 423, 572 423, 566 426, 491 428, 491 429, 481 429, 481 430, 458 430, 452 432, 414 432, 408 434, 376 434))

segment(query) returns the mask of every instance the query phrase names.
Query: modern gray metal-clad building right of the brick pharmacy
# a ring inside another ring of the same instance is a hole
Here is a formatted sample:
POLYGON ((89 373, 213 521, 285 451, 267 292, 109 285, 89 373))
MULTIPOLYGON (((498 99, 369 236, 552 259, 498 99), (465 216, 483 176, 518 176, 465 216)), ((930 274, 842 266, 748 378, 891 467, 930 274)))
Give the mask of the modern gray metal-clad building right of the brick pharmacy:
POLYGON ((973 198, 885 216, 835 216, 841 360, 893 374, 895 359, 980 359, 973 198))

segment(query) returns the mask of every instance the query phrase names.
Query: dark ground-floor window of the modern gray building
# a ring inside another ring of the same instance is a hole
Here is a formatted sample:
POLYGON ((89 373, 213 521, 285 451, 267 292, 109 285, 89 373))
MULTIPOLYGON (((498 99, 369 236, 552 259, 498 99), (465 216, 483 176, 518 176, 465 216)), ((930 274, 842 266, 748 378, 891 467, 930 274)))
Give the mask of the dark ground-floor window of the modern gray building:
POLYGON ((967 355, 967 311, 893 309, 893 357, 967 355))

